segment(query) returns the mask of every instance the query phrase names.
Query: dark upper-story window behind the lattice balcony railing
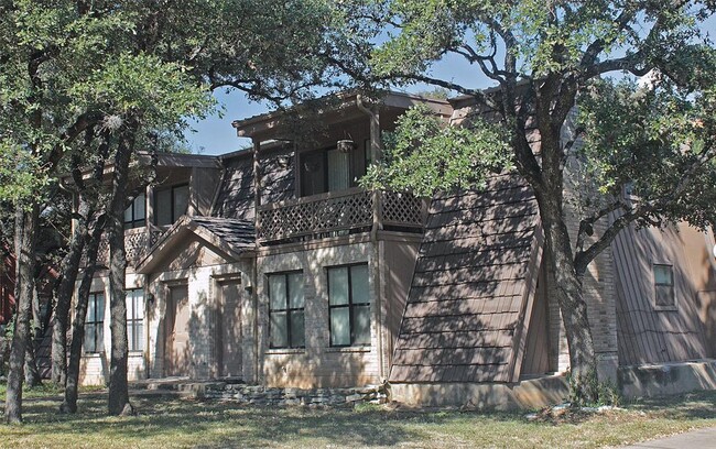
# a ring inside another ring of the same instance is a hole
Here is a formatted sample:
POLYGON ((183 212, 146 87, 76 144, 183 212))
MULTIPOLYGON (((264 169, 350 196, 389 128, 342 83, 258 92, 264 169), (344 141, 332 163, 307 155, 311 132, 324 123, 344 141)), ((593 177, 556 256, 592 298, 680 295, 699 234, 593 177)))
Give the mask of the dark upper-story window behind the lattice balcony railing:
POLYGON ((345 190, 357 185, 369 165, 366 141, 349 152, 324 149, 301 155, 301 196, 345 190))

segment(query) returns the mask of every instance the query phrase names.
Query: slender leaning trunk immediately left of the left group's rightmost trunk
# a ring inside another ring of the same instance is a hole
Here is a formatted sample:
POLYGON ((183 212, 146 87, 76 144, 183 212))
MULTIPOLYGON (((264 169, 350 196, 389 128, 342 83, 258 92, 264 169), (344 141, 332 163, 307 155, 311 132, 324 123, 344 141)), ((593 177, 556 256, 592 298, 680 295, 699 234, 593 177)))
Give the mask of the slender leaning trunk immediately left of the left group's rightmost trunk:
POLYGON ((101 242, 102 230, 105 228, 104 218, 99 218, 95 223, 89 239, 87 241, 87 269, 83 273, 82 283, 77 291, 77 306, 75 307, 75 320, 72 327, 72 343, 69 347, 69 362, 67 363, 67 380, 65 383, 65 397, 59 412, 77 412, 77 390, 79 386, 79 365, 82 362, 82 347, 85 341, 85 320, 87 319, 87 303, 89 300, 89 291, 91 281, 95 276, 97 266, 97 253, 101 242))

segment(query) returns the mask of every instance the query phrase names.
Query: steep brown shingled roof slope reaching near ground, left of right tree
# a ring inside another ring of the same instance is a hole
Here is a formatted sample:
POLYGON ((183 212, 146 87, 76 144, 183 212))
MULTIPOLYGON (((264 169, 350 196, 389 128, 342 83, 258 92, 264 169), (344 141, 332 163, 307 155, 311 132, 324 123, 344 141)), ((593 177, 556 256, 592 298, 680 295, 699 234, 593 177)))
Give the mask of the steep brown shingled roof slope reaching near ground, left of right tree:
POLYGON ((517 382, 542 232, 514 175, 433 199, 390 382, 517 382))

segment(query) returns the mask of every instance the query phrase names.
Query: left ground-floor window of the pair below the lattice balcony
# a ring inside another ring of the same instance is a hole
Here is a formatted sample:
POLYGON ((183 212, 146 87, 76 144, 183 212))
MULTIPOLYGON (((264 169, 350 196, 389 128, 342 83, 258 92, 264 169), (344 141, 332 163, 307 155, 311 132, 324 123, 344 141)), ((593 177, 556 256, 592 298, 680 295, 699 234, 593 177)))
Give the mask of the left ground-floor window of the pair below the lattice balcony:
POLYGON ((305 348, 303 273, 269 276, 271 348, 305 348))

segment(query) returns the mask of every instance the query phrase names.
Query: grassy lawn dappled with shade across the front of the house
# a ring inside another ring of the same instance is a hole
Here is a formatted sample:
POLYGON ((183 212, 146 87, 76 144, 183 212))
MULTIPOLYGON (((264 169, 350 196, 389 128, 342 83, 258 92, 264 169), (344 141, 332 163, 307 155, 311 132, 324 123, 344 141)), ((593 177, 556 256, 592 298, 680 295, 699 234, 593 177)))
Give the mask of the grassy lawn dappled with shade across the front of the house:
MULTIPOLYGON (((106 396, 80 398, 80 412, 76 415, 58 414, 55 401, 33 401, 25 404, 24 426, 17 430, 0 426, 0 434, 8 431, 8 441, 12 440, 10 434, 21 438, 23 434, 31 434, 36 441, 55 441, 57 447, 373 447, 397 446, 406 441, 435 443, 435 438, 438 438, 437 446, 444 446, 455 443, 459 438, 478 443, 485 431, 501 432, 500 438, 512 438, 524 432, 542 432, 544 438, 553 438, 564 431, 573 431, 572 425, 583 421, 594 419, 599 426, 600 420, 604 424, 622 419, 619 413, 614 414, 614 419, 609 418, 609 414, 603 417, 598 417, 599 414, 577 414, 571 419, 528 423, 524 417, 527 412, 279 408, 165 396, 135 396, 132 402, 140 412, 139 416, 117 418, 106 416, 106 396), (436 437, 438 434, 442 437, 436 437)), ((638 420, 649 420, 654 416, 685 421, 714 419, 715 404, 716 392, 703 392, 644 399, 626 407, 631 416, 634 412, 637 415, 643 412, 644 416, 638 417, 638 420)), ((505 440, 484 442, 489 446, 495 441, 505 440)), ((557 443, 558 440, 553 442, 557 443)))

